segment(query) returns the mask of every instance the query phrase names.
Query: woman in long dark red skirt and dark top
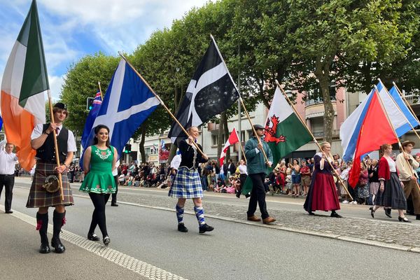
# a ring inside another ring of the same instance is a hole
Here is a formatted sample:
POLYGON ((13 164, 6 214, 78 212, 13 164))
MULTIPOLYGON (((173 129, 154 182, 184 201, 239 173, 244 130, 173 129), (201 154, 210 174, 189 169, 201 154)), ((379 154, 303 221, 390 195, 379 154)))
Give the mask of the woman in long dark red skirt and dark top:
POLYGON ((314 173, 312 175, 309 193, 304 202, 304 209, 309 215, 314 215, 314 211, 331 211, 331 217, 341 218, 337 214, 339 201, 334 179, 332 178, 332 168, 327 160, 332 164, 331 145, 328 142, 321 143, 321 151, 314 156, 314 173))

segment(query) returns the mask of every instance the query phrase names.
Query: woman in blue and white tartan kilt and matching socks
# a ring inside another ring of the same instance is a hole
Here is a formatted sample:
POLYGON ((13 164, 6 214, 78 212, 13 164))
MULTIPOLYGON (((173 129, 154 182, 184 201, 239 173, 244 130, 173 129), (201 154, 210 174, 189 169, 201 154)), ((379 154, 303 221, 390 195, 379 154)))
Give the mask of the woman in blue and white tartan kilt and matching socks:
MULTIPOLYGON (((180 232, 188 232, 188 229, 183 223, 184 205, 187 198, 192 198, 194 202, 195 216, 197 217, 199 232, 211 232, 213 227, 207 225, 204 221, 204 209, 202 207, 202 183, 197 168, 199 163, 207 162, 209 158, 207 155, 202 155, 197 152, 193 141, 198 138, 199 132, 197 127, 190 127, 187 130, 188 139, 179 142, 179 151, 181 152, 181 164, 179 165, 178 173, 176 173, 172 188, 169 190, 169 196, 178 197, 176 204, 176 218, 178 218, 178 230, 180 232)), ((197 144, 202 150, 202 146, 197 144)))

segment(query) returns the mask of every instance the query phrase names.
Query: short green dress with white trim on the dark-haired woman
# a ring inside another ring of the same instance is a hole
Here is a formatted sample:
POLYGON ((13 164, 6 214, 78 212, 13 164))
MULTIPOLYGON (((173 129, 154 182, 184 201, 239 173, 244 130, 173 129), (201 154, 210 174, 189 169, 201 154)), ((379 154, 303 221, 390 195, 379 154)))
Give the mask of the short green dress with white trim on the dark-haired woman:
POLYGON ((106 150, 94 145, 90 147, 92 149, 90 171, 86 174, 79 190, 85 193, 116 193, 116 181, 112 175, 113 146, 106 150))

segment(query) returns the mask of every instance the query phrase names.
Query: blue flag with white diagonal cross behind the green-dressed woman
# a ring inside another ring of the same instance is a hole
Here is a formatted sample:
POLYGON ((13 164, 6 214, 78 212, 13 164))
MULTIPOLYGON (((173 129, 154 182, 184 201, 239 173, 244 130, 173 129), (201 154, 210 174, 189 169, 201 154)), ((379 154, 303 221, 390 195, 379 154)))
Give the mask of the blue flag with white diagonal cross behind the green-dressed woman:
POLYGON ((121 155, 127 141, 159 104, 158 98, 146 83, 124 59, 121 59, 106 90, 85 147, 93 144, 94 127, 106 125, 110 130, 111 146, 116 147, 118 155, 121 155))

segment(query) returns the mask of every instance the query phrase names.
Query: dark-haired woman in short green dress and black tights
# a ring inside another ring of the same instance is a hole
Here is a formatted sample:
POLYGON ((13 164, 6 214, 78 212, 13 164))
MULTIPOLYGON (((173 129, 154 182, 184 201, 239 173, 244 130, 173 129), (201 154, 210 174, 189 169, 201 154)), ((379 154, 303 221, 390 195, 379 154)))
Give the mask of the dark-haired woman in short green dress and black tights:
POLYGON ((109 145, 109 128, 106 125, 98 125, 94 128, 94 142, 85 151, 83 169, 85 180, 80 186, 80 191, 89 193, 94 205, 92 223, 90 223, 87 239, 99 241, 94 234, 94 229, 99 225, 105 245, 110 242, 106 231, 105 205, 109 196, 116 192, 116 182, 112 171, 116 166, 118 154, 116 148, 109 145))

